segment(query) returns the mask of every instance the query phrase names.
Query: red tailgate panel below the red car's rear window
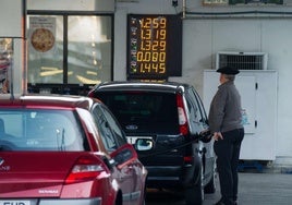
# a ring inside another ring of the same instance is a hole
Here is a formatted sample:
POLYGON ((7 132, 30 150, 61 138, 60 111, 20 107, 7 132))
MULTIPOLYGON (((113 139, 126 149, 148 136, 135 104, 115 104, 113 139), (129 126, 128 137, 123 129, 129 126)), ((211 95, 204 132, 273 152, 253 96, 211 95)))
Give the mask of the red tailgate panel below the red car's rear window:
POLYGON ((0 197, 58 197, 80 152, 0 152, 0 197))

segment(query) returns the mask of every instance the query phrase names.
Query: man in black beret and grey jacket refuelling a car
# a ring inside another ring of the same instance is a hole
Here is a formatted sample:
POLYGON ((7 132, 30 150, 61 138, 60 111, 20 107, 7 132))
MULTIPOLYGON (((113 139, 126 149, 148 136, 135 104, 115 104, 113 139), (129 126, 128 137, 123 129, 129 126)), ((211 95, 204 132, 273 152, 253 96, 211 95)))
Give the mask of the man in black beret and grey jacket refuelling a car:
POLYGON ((223 67, 220 85, 214 96, 209 110, 209 128, 214 135, 214 150, 217 155, 221 198, 216 205, 238 204, 238 165, 244 129, 241 123, 241 96, 234 85, 239 70, 223 67))

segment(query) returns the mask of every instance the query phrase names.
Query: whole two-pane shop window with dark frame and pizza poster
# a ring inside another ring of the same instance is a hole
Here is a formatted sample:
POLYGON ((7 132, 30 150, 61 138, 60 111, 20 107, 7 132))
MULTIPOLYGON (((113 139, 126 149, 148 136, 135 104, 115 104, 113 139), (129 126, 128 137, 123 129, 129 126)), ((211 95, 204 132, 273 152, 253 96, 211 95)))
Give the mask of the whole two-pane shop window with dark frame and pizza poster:
POLYGON ((82 94, 112 79, 112 15, 27 15, 31 93, 82 94))

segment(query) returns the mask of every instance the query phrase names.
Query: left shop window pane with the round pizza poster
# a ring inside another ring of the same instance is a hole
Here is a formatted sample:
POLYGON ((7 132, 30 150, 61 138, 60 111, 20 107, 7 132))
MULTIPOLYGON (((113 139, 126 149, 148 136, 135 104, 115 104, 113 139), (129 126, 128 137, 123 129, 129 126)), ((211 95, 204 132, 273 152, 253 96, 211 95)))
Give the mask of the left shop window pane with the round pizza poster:
POLYGON ((63 16, 29 16, 28 83, 63 83, 63 16))

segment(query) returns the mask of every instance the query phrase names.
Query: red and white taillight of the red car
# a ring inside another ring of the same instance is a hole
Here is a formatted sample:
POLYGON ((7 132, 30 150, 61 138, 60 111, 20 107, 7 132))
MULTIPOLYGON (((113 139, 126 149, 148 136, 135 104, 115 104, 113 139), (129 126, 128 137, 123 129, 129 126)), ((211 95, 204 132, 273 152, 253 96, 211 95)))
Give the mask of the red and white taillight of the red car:
POLYGON ((81 157, 77 159, 71 172, 66 177, 65 183, 90 181, 98 178, 98 176, 105 171, 106 169, 104 167, 104 164, 97 158, 81 157))

